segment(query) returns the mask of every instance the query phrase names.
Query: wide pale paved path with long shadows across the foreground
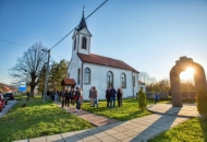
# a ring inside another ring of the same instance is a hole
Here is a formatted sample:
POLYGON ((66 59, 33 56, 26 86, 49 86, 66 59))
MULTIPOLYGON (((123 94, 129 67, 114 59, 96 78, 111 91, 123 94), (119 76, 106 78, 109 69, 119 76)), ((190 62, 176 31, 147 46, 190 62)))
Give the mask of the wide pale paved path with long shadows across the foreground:
POLYGON ((186 117, 154 114, 93 129, 17 142, 145 142, 187 119, 186 117))

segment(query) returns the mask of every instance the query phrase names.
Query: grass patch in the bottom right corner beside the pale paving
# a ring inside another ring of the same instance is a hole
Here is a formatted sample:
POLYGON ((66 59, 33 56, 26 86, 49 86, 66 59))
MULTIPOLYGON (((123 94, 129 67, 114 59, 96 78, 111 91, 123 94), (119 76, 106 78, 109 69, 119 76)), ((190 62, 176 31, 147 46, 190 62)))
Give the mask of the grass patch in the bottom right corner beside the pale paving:
POLYGON ((178 127, 160 133, 149 142, 206 142, 207 121, 200 118, 190 119, 178 127))

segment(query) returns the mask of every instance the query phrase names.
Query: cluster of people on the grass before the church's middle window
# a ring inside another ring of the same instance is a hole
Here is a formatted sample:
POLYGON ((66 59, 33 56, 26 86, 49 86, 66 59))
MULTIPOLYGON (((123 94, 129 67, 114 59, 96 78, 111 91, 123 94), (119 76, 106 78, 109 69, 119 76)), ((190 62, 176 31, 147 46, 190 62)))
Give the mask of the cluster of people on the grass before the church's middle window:
POLYGON ((107 99, 107 107, 109 108, 114 108, 115 107, 115 97, 118 98, 118 106, 122 106, 122 97, 123 97, 123 92, 121 87, 118 87, 118 91, 115 91, 112 87, 108 86, 106 91, 106 99, 107 99))

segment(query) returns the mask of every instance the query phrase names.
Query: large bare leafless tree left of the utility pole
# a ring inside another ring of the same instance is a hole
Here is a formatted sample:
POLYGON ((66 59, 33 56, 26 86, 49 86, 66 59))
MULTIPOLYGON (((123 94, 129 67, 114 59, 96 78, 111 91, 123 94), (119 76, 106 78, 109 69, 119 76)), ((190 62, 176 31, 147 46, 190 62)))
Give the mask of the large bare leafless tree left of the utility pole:
POLYGON ((23 54, 23 57, 17 58, 16 64, 10 69, 13 78, 27 81, 31 86, 31 96, 34 96, 39 74, 47 60, 47 52, 41 49, 46 49, 41 43, 34 44, 23 54))

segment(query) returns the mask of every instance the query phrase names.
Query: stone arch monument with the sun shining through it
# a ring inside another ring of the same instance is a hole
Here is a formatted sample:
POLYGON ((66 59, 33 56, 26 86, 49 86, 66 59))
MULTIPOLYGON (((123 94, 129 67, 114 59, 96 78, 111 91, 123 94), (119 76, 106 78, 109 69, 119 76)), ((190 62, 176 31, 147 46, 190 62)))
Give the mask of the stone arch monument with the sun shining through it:
POLYGON ((207 90, 206 75, 204 68, 193 62, 192 58, 180 57, 180 60, 175 61, 175 66, 170 71, 170 84, 171 84, 171 95, 172 95, 172 106, 182 107, 182 95, 180 87, 180 73, 185 71, 187 68, 193 68, 194 80, 195 80, 195 91, 198 92, 199 88, 207 90))

